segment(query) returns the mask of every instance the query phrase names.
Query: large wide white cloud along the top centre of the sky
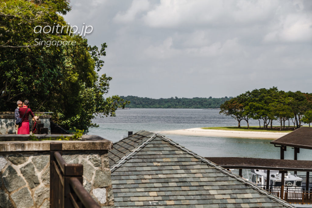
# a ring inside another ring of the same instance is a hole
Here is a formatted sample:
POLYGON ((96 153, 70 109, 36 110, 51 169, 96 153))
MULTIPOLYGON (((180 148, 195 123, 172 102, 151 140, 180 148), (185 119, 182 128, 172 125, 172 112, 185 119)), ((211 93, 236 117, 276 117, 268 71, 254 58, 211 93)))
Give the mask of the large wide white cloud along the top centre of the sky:
POLYGON ((161 0, 144 16, 150 27, 251 24, 274 13, 275 1, 161 0))

